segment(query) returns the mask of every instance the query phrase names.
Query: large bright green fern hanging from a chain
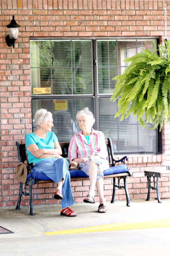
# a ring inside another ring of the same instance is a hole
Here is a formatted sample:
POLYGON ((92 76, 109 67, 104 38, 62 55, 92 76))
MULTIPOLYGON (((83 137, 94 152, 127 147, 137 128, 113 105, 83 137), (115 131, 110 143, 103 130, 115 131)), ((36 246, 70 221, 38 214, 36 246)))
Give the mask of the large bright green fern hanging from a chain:
POLYGON ((152 123, 160 130, 164 119, 170 122, 170 42, 165 43, 159 45, 160 56, 143 49, 125 59, 129 66, 113 78, 117 82, 111 100, 119 99, 115 117, 123 120, 132 113, 143 128, 152 123))

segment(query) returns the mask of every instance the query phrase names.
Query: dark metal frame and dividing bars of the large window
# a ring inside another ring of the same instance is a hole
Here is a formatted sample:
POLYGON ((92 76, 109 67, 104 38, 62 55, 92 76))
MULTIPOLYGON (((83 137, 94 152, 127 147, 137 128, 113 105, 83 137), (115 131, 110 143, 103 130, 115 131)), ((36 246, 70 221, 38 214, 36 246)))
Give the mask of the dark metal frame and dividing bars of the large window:
MULTIPOLYGON (((93 106, 94 106, 94 116, 96 119, 96 122, 94 123, 94 129, 99 130, 99 99, 104 99, 104 98, 110 98, 112 93, 108 94, 100 94, 98 92, 98 70, 97 70, 97 40, 100 41, 120 41, 120 40, 125 40, 125 41, 130 41, 130 40, 156 40, 156 46, 159 44, 159 38, 156 37, 132 37, 132 38, 123 38, 123 37, 117 37, 117 38, 30 38, 30 41, 71 41, 71 40, 77 40, 77 41, 83 41, 83 40, 88 40, 91 41, 91 46, 92 46, 92 86, 93 86, 93 94, 50 94, 50 95, 34 95, 31 93, 31 103, 32 100, 38 99, 38 100, 43 100, 43 99, 86 99, 87 96, 88 98, 92 99, 93 106)), ((117 43, 116 43, 116 51, 117 51, 117 43)), ((117 63, 118 63, 118 54, 116 54, 117 58, 117 63)), ((117 65, 117 73, 118 73, 118 65, 117 65)), ((32 88, 31 88, 32 90, 32 88)), ((32 109, 32 104, 31 104, 31 111, 33 113, 32 109)), ((32 122, 33 122, 33 117, 32 117, 32 122)), ((33 127, 33 126, 32 126, 33 127)), ((162 134, 159 131, 159 128, 157 129, 157 134, 156 134, 156 154, 161 154, 162 153, 162 134)), ((117 153, 117 154, 123 154, 117 153)), ((130 154, 152 154, 152 153, 130 153, 130 154)))

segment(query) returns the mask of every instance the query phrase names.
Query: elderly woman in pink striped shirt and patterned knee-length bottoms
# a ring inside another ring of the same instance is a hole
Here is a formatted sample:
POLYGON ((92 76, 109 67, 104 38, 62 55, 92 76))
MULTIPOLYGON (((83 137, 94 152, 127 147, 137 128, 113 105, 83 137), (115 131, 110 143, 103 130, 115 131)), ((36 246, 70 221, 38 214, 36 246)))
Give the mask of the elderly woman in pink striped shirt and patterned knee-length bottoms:
POLYGON ((108 153, 105 145, 105 137, 101 131, 95 131, 92 126, 95 119, 88 108, 77 112, 77 121, 81 131, 71 138, 68 148, 69 161, 78 163, 80 170, 85 172, 90 179, 90 189, 85 203, 95 203, 95 186, 99 194, 98 212, 106 212, 103 192, 103 171, 109 168, 108 153))

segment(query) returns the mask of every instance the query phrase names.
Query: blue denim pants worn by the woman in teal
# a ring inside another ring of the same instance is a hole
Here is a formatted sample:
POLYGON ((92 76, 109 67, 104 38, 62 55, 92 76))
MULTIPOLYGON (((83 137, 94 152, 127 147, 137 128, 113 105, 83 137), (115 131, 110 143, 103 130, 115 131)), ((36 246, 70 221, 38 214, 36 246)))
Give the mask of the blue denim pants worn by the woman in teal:
POLYGON ((35 163, 32 171, 42 172, 57 184, 63 179, 63 199, 61 201, 62 208, 74 204, 74 199, 71 192, 70 172, 68 171, 68 162, 65 158, 47 158, 35 163))

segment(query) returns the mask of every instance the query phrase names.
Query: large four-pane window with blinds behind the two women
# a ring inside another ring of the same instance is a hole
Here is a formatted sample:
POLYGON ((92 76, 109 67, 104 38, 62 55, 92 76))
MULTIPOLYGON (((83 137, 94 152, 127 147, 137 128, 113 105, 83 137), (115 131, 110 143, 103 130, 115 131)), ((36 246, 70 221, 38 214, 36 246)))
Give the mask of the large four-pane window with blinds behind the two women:
POLYGON ((111 137, 116 154, 156 154, 158 131, 143 129, 133 116, 120 122, 117 102, 110 101, 124 59, 143 48, 156 51, 156 39, 31 40, 33 116, 39 108, 51 111, 58 140, 69 141, 79 131, 77 111, 88 107, 94 128, 111 137))

